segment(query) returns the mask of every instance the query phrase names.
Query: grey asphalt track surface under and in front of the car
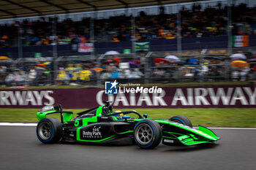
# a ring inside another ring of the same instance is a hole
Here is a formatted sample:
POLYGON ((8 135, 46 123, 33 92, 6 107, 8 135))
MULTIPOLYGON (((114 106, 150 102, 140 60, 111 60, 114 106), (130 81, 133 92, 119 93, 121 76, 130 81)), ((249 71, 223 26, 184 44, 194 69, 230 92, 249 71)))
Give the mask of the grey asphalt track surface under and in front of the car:
POLYGON ((0 126, 0 169, 255 170, 255 129, 214 129, 218 144, 154 150, 137 145, 42 144, 36 127, 0 126))

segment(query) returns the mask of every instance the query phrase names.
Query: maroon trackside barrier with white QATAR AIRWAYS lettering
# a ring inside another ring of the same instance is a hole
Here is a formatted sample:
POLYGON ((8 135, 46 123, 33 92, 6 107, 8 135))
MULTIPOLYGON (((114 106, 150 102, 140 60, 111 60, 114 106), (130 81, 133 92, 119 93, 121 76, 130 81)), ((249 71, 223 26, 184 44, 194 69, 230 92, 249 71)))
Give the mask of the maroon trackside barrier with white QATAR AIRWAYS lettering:
POLYGON ((113 101, 115 108, 256 107, 256 85, 165 88, 118 85, 117 93, 110 92, 102 88, 1 90, 0 107, 39 109, 61 104, 65 109, 85 109, 103 105, 102 101, 113 101))

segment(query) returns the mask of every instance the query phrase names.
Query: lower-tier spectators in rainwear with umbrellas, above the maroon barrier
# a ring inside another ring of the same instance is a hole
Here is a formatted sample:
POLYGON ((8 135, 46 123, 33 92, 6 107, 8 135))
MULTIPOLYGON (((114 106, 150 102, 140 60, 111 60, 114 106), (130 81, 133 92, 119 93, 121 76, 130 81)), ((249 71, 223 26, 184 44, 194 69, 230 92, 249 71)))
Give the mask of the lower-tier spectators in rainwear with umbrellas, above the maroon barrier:
POLYGON ((192 55, 180 59, 180 61, 167 60, 152 55, 151 58, 143 60, 139 56, 119 58, 118 55, 113 55, 102 59, 100 63, 97 61, 60 62, 56 74, 53 72, 52 62, 16 63, 16 65, 10 63, 10 65, 0 66, 0 85, 96 85, 98 80, 102 82, 118 80, 125 83, 143 83, 147 80, 153 83, 165 83, 256 79, 256 56, 251 59, 242 59, 229 56, 199 58, 197 55, 192 55), (234 61, 237 62, 234 63, 234 61))

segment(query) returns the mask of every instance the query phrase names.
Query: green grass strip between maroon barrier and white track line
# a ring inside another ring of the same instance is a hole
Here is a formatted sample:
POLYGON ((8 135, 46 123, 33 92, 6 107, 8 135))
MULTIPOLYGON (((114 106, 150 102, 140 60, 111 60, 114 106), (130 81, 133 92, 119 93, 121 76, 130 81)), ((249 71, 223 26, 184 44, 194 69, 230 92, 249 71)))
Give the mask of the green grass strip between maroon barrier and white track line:
MULTIPOLYGON (((0 122, 37 122, 40 109, 0 109, 0 122)), ((85 109, 65 109, 74 113, 85 109)), ((116 110, 116 109, 114 109, 116 110)), ((132 110, 132 109, 121 109, 132 110)), ((211 127, 256 127, 256 108, 209 108, 209 109, 135 109, 148 118, 169 119, 175 115, 189 117, 194 126, 211 127)), ((59 117, 59 115, 48 115, 59 117)), ((74 114, 73 117, 77 115, 74 114)), ((132 117, 132 116, 131 116, 132 117)))

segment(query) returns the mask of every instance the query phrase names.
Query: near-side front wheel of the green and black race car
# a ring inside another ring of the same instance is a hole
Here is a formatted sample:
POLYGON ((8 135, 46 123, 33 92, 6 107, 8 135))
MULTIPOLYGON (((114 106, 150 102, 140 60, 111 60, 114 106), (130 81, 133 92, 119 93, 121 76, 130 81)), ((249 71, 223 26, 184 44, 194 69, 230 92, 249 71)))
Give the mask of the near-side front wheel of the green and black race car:
POLYGON ((143 149, 157 147, 162 139, 162 128, 154 120, 141 120, 134 128, 135 143, 143 149))

